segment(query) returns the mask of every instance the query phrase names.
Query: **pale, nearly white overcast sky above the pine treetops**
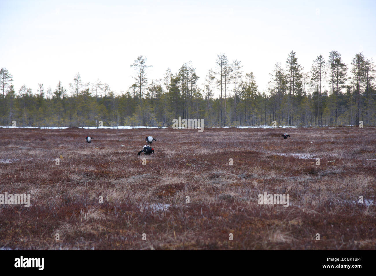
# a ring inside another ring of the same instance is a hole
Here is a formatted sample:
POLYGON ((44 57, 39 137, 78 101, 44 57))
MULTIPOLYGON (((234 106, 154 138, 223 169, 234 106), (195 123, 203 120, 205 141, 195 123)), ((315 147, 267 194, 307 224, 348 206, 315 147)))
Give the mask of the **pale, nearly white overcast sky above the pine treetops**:
POLYGON ((16 92, 25 84, 36 93, 38 83, 55 90, 59 80, 69 91, 79 72, 120 94, 134 83, 129 65, 140 55, 153 79, 192 60, 203 88, 225 53, 255 74, 262 92, 291 50, 305 71, 331 50, 349 67, 360 51, 376 62, 375 26, 376 1, 0 0, 0 68, 16 92))

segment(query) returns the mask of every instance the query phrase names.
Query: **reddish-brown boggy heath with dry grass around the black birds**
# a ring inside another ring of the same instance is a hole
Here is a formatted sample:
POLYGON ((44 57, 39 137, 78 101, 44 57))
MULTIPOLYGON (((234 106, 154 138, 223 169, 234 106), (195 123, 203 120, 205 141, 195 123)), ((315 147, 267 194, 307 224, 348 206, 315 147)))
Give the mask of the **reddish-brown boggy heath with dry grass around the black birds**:
POLYGON ((0 205, 0 247, 376 248, 374 127, 18 128, 0 129, 0 146, 0 193, 31 194, 29 208, 0 205), (143 166, 148 135, 157 142, 143 166), (290 207, 259 205, 265 191, 289 194, 290 207))

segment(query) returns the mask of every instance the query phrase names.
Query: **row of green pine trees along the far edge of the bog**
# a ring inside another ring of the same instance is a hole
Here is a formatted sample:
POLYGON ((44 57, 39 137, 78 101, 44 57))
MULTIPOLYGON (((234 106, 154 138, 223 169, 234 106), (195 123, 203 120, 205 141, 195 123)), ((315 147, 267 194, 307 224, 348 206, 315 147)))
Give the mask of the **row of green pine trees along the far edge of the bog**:
POLYGON ((177 72, 168 68, 158 80, 147 78, 147 64, 139 56, 130 65, 135 82, 115 95, 109 84, 85 83, 74 75, 69 91, 61 81, 55 89, 21 86, 16 92, 13 76, 0 71, 0 124, 35 127, 171 126, 172 120, 204 119, 209 126, 322 126, 376 125, 375 69, 363 53, 350 68, 338 51, 317 56, 310 70, 298 63, 294 51, 284 65, 271 68, 266 91, 259 91, 253 72, 244 73, 240 60, 218 54, 215 67, 202 83, 191 62, 177 72), (219 92, 214 97, 214 91, 219 92))

